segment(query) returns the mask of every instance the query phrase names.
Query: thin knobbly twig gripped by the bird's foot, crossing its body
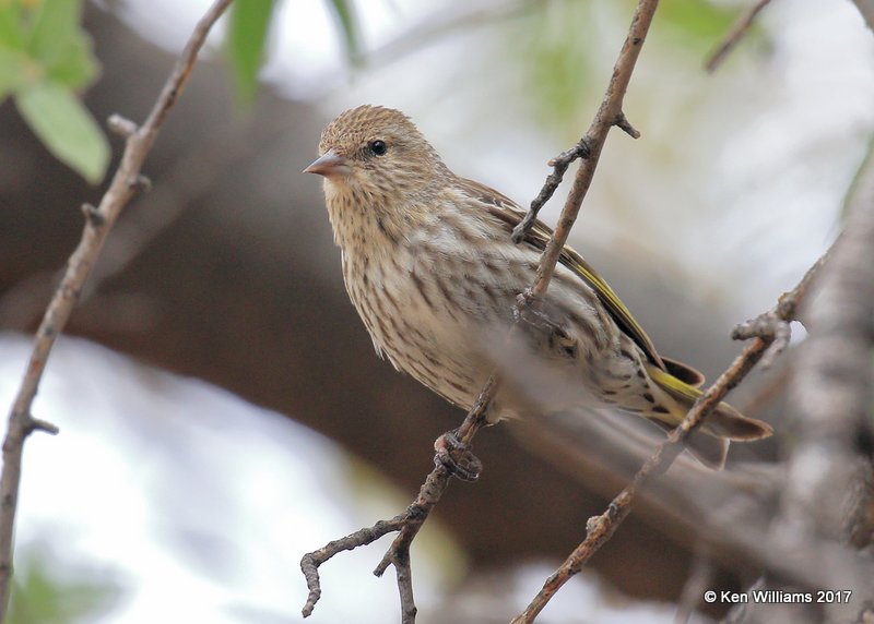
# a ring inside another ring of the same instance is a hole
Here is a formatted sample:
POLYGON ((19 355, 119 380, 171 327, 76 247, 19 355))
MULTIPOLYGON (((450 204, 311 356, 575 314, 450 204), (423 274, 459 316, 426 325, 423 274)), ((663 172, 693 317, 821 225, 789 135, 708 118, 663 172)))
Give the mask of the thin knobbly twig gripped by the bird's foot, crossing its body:
MULTIPOLYGON (((635 10, 635 14, 631 19, 628 36, 625 39, 622 50, 619 51, 618 59, 616 60, 616 64, 613 70, 613 75, 592 124, 590 125, 586 135, 575 147, 557 156, 555 159, 553 159, 553 161, 551 161, 554 170, 547 177, 543 189, 538 194, 538 199, 532 202, 532 209, 527 216, 527 220, 529 223, 533 223, 536 216, 536 211, 540 209, 540 206, 542 206, 543 203, 545 203, 546 200, 548 200, 548 197, 555 192, 555 189, 560 183, 562 177, 564 176, 570 163, 581 156, 584 157, 584 160, 577 170, 574 184, 568 193, 568 197, 562 211, 558 226, 556 227, 555 232, 553 233, 550 242, 546 244, 546 248, 543 251, 543 254, 541 255, 540 266, 538 268, 534 283, 527 291, 525 297, 522 298, 519 307, 529 304, 534 298, 543 296, 543 293, 546 291, 555 271, 558 256, 564 249, 565 243, 567 242, 570 228, 574 226, 574 223, 577 219, 582 201, 586 197, 589 185, 591 184, 592 177, 594 175, 595 167, 598 166, 601 151, 604 146, 610 129, 614 125, 617 125, 633 136, 638 134, 631 124, 625 119, 623 113, 623 99, 625 97, 625 92, 628 88, 628 82, 631 77, 635 63, 637 62, 637 58, 640 53, 640 47, 642 46, 647 32, 649 31, 649 26, 652 23, 652 16, 657 7, 658 0, 639 0, 637 9, 635 10)), ((513 236, 516 236, 516 232, 513 232, 513 236)), ((418 533, 422 525, 427 519, 430 509, 434 508, 440 495, 449 485, 450 477, 453 473, 450 466, 457 464, 459 457, 464 458, 465 454, 470 454, 470 444, 473 441, 474 435, 476 435, 476 432, 485 424, 486 413, 492 400, 495 397, 495 394, 497 393, 497 375, 492 374, 492 376, 488 379, 488 382, 486 382, 485 386, 480 392, 474 406, 468 412, 461 427, 449 436, 451 442, 446 442, 447 435, 438 439, 437 444, 440 446, 440 448, 435 457, 436 467, 428 476, 425 484, 422 487, 416 501, 410 507, 408 507, 406 512, 393 519, 399 520, 402 528, 375 572, 377 575, 381 575, 390 564, 394 564, 397 567, 397 565, 401 563, 404 566, 403 569, 399 568, 398 574, 398 586, 402 600, 402 622, 404 624, 411 624, 415 622, 415 605, 411 602, 412 581, 410 579, 409 568, 405 567, 409 566, 410 544, 413 542, 413 539, 418 533), (447 444, 450 447, 449 451, 446 451, 447 444), (453 461, 446 461, 446 454, 450 455, 453 461)), ((393 520, 389 521, 391 523, 393 520)), ((318 601, 319 597, 321 596, 318 566, 343 550, 351 550, 352 548, 356 548, 356 545, 365 545, 370 543, 373 541, 369 539, 370 531, 377 526, 379 526, 381 529, 385 528, 386 525, 377 523, 377 525, 374 525, 374 527, 370 529, 362 529, 361 531, 356 531, 355 533, 346 536, 341 540, 331 542, 314 553, 304 555, 300 565, 307 578, 307 586, 309 587, 309 596, 303 610, 304 616, 307 616, 312 612, 316 601, 318 601), (362 541, 355 543, 356 540, 362 541), (334 545, 332 547, 332 544, 334 545)), ((386 532, 391 532, 392 530, 398 529, 390 528, 386 532)), ((385 532, 382 535, 385 535, 385 532)))

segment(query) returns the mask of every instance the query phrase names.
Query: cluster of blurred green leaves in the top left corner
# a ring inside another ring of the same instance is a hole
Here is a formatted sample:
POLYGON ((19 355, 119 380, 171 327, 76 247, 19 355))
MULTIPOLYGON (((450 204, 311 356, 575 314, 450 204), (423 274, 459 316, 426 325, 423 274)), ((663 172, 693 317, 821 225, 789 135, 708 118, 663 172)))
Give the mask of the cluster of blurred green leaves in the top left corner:
POLYGON ((81 0, 0 0, 0 101, 85 180, 103 180, 109 144, 78 95, 99 72, 81 0))

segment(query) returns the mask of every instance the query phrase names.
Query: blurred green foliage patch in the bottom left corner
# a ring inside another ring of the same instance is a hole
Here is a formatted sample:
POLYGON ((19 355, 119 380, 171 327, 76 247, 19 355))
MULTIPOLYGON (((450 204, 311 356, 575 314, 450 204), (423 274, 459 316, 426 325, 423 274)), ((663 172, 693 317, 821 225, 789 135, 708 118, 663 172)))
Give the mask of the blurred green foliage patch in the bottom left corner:
POLYGON ((122 589, 111 580, 111 573, 59 569, 46 547, 32 548, 15 559, 9 624, 94 622, 121 598, 122 589))

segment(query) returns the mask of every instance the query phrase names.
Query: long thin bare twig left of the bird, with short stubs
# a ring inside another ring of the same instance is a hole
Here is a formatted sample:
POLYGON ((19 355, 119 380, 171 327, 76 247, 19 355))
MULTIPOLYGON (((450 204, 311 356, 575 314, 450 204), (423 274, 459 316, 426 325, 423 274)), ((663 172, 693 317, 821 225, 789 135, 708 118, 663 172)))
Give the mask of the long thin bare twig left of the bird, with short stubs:
POLYGON ((24 441, 35 430, 57 432, 55 425, 32 416, 32 406, 51 348, 73 311, 83 285, 94 266, 118 215, 128 202, 143 190, 140 169, 149 155, 157 132, 176 104, 193 69, 198 52, 213 24, 232 0, 216 0, 194 27, 181 57, 167 79, 149 118, 137 125, 119 116, 110 119, 110 129, 126 136, 125 153, 99 206, 85 205, 82 239, 67 263, 67 271, 46 309, 36 333, 33 352, 9 415, 9 429, 3 443, 3 470, 0 476, 0 622, 9 604, 12 573, 12 533, 21 481, 24 441))

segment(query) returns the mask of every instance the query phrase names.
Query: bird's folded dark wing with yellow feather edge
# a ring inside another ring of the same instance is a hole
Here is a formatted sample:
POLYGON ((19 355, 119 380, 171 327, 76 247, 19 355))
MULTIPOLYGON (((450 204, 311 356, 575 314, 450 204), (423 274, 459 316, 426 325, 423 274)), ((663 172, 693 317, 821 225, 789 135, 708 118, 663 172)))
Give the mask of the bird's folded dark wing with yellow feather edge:
MULTIPOLYGON (((515 228, 525 215, 524 211, 519 207, 516 202, 485 184, 463 178, 459 179, 459 183, 464 192, 472 199, 477 200, 493 217, 505 223, 508 232, 512 231, 512 228, 515 228)), ((552 235, 553 230, 548 226, 540 220, 535 220, 533 226, 525 233, 522 242, 533 247, 538 251, 543 251, 552 235)), ((598 299, 604 308, 606 308, 610 315, 616 322, 616 325, 640 347, 653 364, 664 370, 665 364, 656 351, 656 346, 652 344, 650 337, 647 336, 647 333, 643 332, 640 324, 635 321, 628 308, 625 307, 610 285, 595 273, 594 268, 568 245, 565 245, 562 250, 558 262, 572 271, 594 290, 598 299)))

